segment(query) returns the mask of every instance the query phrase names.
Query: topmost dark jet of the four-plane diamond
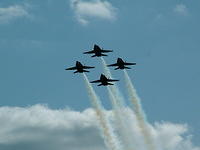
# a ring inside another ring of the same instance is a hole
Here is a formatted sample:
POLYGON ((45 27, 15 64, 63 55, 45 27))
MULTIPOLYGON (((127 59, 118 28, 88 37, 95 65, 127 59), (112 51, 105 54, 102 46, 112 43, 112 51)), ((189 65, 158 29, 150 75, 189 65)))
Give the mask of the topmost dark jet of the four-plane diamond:
POLYGON ((94 44, 93 50, 84 52, 83 54, 94 54, 91 57, 101 57, 101 56, 108 56, 106 54, 103 54, 108 52, 113 52, 113 50, 104 50, 103 48, 101 49, 98 45, 94 44))

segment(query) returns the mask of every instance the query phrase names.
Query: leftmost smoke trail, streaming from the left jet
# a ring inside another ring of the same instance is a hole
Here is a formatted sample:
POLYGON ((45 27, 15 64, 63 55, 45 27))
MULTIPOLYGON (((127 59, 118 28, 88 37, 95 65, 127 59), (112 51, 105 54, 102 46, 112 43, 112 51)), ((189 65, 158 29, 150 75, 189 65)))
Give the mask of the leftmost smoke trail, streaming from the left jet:
POLYGON ((88 90, 88 94, 89 94, 89 97, 91 100, 91 104, 96 111, 99 123, 100 123, 102 131, 103 131, 103 136, 104 136, 104 141, 106 143, 106 146, 110 150, 121 150, 121 145, 120 145, 117 137, 114 135, 114 132, 113 132, 113 129, 112 129, 110 123, 108 122, 107 118, 105 117, 104 109, 103 109, 93 87, 89 83, 87 76, 85 74, 83 74, 83 75, 84 75, 85 84, 86 84, 86 87, 88 90))

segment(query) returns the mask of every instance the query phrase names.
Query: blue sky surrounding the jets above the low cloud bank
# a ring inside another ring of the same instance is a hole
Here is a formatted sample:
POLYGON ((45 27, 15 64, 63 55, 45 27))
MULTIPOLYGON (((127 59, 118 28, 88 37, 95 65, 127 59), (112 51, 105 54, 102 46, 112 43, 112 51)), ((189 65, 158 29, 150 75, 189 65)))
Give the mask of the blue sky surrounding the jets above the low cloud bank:
MULTIPOLYGON (((187 128, 192 143, 199 145, 199 6, 198 0, 1 0, 2 127, 17 123, 15 119, 6 121, 12 115, 6 116, 4 109, 16 112, 17 116, 35 108, 41 114, 46 109, 50 112, 70 109, 84 115, 91 106, 83 77, 64 69, 78 60, 95 66, 87 75, 90 80, 98 79, 103 71, 101 60, 82 54, 98 44, 114 50, 105 57, 107 63, 114 63, 118 57, 137 63, 128 73, 148 120, 152 124, 174 123, 172 128, 180 124, 177 134, 187 128)), ((120 91, 127 98, 123 72, 112 70, 112 73, 113 78, 120 79, 120 91)), ((107 90, 93 87, 105 108, 110 109, 107 90)), ((22 126, 19 124, 18 129, 26 130, 22 126)), ((0 139, 8 135, 3 134, 5 131, 0 131, 0 139)), ((96 137, 100 141, 97 145, 101 145, 99 135, 96 137)), ((23 138, 18 143, 19 149, 28 145, 23 138)), ((4 146, 0 142, 0 149, 12 149, 4 146)))

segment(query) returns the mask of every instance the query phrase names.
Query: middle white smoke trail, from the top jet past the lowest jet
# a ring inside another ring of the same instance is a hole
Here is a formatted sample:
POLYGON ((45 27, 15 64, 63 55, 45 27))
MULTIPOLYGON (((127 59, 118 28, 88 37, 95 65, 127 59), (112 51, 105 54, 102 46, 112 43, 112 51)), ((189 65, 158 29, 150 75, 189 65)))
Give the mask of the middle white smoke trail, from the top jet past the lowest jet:
MULTIPOLYGON (((107 67, 105 60, 102 57, 101 60, 105 74, 108 77, 112 78, 112 74, 109 68, 107 67)), ((109 86, 107 89, 113 107, 121 140, 123 141, 124 147, 127 150, 133 150, 134 147, 133 136, 130 133, 130 128, 129 128, 130 121, 128 121, 128 116, 125 113, 126 108, 124 106, 124 98, 116 85, 109 86)))

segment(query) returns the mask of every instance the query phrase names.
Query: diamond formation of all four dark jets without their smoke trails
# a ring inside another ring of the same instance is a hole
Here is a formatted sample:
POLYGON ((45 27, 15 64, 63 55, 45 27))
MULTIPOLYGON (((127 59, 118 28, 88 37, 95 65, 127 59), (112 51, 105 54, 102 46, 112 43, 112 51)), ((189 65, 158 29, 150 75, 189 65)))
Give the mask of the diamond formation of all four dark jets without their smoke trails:
MULTIPOLYGON (((101 57, 101 56, 108 56, 107 54, 104 54, 104 53, 109 53, 109 52, 113 52, 113 50, 105 50, 103 48, 100 48, 98 45, 94 44, 94 47, 92 50, 84 52, 83 54, 93 54, 91 57, 101 57)), ((118 69, 131 69, 130 67, 127 67, 130 65, 136 65, 136 63, 127 63, 127 62, 123 61, 122 58, 117 58, 116 63, 110 64, 107 66, 108 67, 116 67, 114 70, 118 70, 118 69)), ((85 66, 81 62, 76 61, 76 64, 74 67, 66 68, 65 70, 75 70, 74 73, 84 73, 84 72, 90 72, 86 69, 93 69, 93 68, 95 68, 95 67, 85 66)), ((91 81, 90 83, 100 83, 100 84, 98 84, 98 86, 102 86, 102 85, 107 86, 107 85, 113 85, 110 82, 116 82, 116 81, 119 81, 119 80, 109 79, 104 74, 101 74, 99 80, 91 81)))

